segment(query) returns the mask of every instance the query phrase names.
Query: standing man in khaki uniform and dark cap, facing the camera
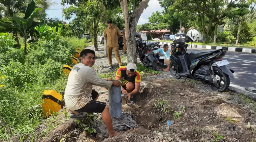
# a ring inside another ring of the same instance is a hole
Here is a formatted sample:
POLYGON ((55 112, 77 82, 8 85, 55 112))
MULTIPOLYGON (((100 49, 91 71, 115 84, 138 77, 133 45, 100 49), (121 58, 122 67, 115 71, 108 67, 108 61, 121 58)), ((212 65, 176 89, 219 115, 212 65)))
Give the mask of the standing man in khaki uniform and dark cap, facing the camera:
POLYGON ((112 69, 112 49, 115 52, 116 59, 118 62, 119 67, 122 66, 121 58, 118 51, 118 38, 121 37, 121 32, 119 29, 115 26, 113 26, 113 23, 111 20, 107 21, 108 27, 104 30, 104 37, 107 40, 107 56, 108 56, 108 63, 109 67, 108 69, 112 69))

